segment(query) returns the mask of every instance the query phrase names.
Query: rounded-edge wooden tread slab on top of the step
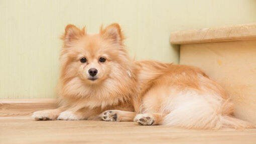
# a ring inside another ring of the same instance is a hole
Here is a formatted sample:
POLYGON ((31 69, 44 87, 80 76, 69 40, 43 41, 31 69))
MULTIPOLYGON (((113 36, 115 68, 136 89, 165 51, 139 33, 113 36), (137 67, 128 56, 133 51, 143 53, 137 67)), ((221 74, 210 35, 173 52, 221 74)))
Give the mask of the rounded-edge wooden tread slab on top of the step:
POLYGON ((236 41, 256 39, 256 23, 209 27, 171 33, 172 44, 236 41))

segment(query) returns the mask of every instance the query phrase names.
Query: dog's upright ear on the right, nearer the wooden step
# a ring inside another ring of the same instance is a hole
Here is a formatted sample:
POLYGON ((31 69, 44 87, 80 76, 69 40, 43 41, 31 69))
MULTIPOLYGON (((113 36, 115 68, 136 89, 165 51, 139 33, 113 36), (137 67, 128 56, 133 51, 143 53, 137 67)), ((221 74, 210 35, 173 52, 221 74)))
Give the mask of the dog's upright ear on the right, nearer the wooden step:
POLYGON ((119 43, 119 44, 122 43, 122 40, 124 38, 118 23, 112 23, 104 29, 101 26, 100 34, 104 38, 110 39, 112 42, 119 43))

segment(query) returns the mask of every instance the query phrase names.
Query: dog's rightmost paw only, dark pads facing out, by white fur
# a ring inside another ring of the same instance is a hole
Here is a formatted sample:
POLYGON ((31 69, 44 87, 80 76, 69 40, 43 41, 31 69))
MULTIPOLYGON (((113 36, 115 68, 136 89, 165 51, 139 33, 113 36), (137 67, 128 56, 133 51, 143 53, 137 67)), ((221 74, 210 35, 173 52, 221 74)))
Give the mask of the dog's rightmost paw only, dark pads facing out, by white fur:
POLYGON ((147 114, 137 114, 134 121, 141 125, 153 125, 155 122, 154 118, 147 114))

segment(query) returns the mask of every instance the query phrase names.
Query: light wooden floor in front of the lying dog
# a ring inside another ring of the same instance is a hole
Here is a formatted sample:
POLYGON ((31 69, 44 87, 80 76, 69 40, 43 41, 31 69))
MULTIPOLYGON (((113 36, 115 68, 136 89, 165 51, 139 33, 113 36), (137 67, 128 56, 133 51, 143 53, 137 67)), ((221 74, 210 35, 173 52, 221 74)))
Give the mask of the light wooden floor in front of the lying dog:
POLYGON ((0 117, 0 143, 256 143, 256 130, 195 130, 134 122, 0 117))

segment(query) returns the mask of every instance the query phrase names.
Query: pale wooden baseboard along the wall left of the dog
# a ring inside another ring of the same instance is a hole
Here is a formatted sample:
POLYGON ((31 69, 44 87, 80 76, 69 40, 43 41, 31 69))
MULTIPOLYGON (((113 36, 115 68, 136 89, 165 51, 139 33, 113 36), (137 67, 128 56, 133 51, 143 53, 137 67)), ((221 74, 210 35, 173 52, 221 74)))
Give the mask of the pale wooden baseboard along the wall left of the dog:
POLYGON ((55 98, 0 99, 0 119, 24 118, 37 110, 56 108, 56 101, 55 98))

